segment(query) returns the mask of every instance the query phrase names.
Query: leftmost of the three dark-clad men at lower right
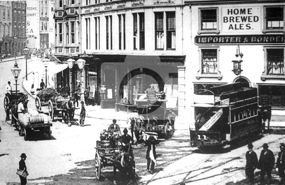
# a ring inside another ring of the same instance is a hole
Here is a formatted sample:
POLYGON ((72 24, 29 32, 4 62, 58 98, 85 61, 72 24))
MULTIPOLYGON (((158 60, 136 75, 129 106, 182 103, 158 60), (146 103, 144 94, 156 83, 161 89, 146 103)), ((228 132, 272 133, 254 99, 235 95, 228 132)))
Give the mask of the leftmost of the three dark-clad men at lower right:
POLYGON ((247 148, 249 150, 245 153, 245 159, 247 160, 245 175, 249 178, 249 183, 254 184, 254 170, 256 169, 258 159, 256 153, 253 151, 252 143, 249 143, 247 148))

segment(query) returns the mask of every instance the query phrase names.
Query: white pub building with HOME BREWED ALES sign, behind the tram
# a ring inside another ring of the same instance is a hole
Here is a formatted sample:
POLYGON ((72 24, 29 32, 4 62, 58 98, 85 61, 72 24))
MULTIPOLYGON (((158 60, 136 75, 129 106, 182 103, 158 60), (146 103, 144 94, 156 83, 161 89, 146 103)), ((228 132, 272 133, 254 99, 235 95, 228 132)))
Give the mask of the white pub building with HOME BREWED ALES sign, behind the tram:
MULTIPOLYGON (((185 1, 191 7, 192 43, 191 87, 187 90, 193 94, 217 85, 249 82, 256 85, 259 96, 269 97, 273 120, 284 116, 284 3, 185 1), (235 54, 243 62, 234 68, 235 54)), ((186 102, 191 120, 196 117, 190 106, 193 102, 192 98, 186 102)))

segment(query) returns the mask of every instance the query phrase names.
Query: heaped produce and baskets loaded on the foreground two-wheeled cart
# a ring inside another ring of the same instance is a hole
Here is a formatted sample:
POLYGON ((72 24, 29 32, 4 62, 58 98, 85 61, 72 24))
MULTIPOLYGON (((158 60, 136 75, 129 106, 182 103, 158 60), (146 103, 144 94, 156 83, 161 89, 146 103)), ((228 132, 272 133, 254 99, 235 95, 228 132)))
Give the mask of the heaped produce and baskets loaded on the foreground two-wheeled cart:
POLYGON ((117 148, 120 138, 121 132, 103 130, 100 132, 101 141, 97 141, 96 145, 98 148, 117 148))

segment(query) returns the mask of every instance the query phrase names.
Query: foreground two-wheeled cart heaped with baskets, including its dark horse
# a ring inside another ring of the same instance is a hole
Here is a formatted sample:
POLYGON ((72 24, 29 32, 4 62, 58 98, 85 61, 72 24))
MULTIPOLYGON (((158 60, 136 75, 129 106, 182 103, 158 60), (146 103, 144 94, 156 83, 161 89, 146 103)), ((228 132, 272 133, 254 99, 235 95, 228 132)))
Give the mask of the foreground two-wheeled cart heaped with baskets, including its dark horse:
POLYGON ((103 130, 100 133, 101 141, 96 142, 95 152, 95 173, 99 180, 101 176, 101 168, 112 167, 114 168, 114 175, 116 169, 121 172, 121 175, 126 175, 129 178, 135 176, 135 159, 133 152, 122 152, 120 142, 121 133, 108 130, 103 130))

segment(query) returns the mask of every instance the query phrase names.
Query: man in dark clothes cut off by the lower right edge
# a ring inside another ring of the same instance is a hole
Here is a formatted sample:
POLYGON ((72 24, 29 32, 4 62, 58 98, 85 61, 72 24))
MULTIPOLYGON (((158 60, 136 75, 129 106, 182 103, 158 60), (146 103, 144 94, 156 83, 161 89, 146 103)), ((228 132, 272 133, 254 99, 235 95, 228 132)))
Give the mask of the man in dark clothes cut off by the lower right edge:
POLYGON ((285 184, 285 144, 280 143, 280 152, 278 152, 278 157, 276 161, 276 171, 279 175, 279 184, 285 184))

